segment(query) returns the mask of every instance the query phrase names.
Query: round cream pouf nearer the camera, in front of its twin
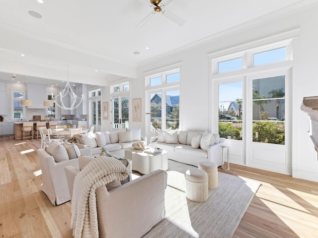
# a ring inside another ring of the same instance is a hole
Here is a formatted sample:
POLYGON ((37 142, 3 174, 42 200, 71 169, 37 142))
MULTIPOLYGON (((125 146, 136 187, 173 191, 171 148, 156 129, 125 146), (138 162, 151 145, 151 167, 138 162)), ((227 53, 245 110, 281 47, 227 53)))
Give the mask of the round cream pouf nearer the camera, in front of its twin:
POLYGON ((185 196, 194 202, 208 200, 208 175, 203 170, 188 170, 185 173, 185 196))

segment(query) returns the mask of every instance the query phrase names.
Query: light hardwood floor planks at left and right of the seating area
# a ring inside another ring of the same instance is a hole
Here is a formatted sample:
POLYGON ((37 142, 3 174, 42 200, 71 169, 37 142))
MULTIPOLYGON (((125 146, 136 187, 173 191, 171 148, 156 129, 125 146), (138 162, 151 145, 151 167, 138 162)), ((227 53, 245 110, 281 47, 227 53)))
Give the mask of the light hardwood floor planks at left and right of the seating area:
MULTIPOLYGON (((42 176, 36 153, 39 147, 40 139, 0 137, 0 235, 3 238, 73 237, 71 202, 53 206, 41 191, 42 176)), ((219 172, 262 184, 235 238, 318 237, 317 182, 234 164, 230 168, 229 172, 219 172)))

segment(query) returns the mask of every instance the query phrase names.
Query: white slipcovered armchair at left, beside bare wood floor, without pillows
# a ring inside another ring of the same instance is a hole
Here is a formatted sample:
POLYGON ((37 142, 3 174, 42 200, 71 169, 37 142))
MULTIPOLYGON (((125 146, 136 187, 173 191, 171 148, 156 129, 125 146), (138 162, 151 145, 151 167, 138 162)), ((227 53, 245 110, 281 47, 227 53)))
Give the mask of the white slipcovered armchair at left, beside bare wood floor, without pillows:
MULTIPOLYGON (((91 155, 91 148, 80 149, 82 155, 91 155)), ((37 150, 42 171, 42 191, 48 196, 54 206, 71 200, 64 167, 79 168, 79 159, 56 163, 53 156, 44 149, 37 150)))

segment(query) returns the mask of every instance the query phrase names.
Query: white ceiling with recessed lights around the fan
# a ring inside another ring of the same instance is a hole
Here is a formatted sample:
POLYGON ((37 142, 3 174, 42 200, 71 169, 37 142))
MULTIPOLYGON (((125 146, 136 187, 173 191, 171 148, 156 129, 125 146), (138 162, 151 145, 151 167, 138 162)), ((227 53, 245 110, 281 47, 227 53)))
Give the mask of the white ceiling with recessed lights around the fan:
POLYGON ((70 82, 89 79, 89 84, 106 85, 109 80, 136 77, 140 62, 256 19, 270 20, 317 4, 317 0, 166 0, 170 3, 165 9, 186 20, 183 26, 159 13, 136 28, 152 11, 143 1, 150 0, 0 0, 0 80, 11 80, 16 73, 26 82, 51 86, 67 80, 69 65, 70 82))

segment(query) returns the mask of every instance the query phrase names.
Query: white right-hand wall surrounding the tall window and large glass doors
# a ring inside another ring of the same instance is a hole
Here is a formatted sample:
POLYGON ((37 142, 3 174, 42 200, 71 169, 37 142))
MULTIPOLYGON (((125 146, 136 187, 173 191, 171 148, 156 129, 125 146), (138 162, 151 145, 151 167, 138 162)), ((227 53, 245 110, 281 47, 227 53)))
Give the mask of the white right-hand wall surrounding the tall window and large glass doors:
MULTIPOLYGON (((262 22, 262 19, 258 19, 258 21, 262 22)), ((210 124, 212 122, 209 121, 209 115, 217 114, 217 112, 211 110, 212 105, 208 105, 209 98, 212 98, 208 90, 208 55, 225 49, 228 49, 227 54, 231 54, 299 34, 293 45, 293 177, 318 181, 317 155, 307 133, 309 120, 307 115, 300 111, 303 97, 318 95, 317 22, 318 6, 285 17, 277 17, 276 20, 263 21, 257 27, 255 25, 239 26, 228 34, 222 33, 223 35, 215 36, 215 39, 205 45, 140 63, 137 68, 137 79, 131 81, 131 98, 141 97, 143 100, 143 121, 142 123, 136 123, 136 126, 145 127, 144 73, 182 62, 180 114, 183 120, 181 129, 204 131, 213 128, 210 124)), ((213 25, 207 25, 206 27, 213 27, 213 25)))

